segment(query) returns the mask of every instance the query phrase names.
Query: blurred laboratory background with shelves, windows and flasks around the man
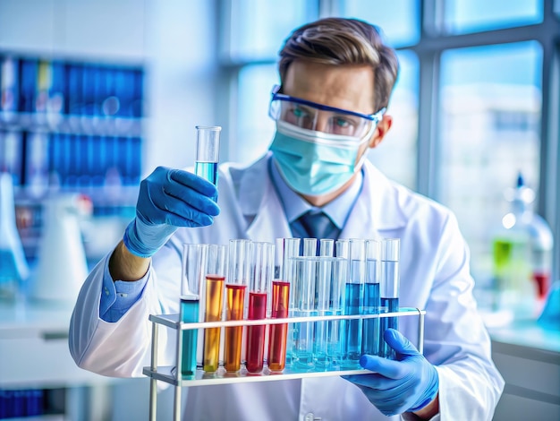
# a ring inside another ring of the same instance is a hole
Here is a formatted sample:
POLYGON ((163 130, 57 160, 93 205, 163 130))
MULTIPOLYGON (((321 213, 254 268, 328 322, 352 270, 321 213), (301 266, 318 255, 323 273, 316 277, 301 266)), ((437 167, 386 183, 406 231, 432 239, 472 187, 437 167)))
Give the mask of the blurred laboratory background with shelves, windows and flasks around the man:
POLYGON ((496 419, 558 419, 560 328, 514 325, 508 305, 529 294, 536 321, 560 279, 560 0, 0 0, 0 418, 148 419, 148 378, 70 357, 81 280, 140 180, 194 164, 195 125, 223 127, 221 161, 267 150, 277 52, 326 16, 397 48, 394 125, 369 159, 459 219, 506 379, 496 419), (530 280, 512 292, 515 256, 530 280))

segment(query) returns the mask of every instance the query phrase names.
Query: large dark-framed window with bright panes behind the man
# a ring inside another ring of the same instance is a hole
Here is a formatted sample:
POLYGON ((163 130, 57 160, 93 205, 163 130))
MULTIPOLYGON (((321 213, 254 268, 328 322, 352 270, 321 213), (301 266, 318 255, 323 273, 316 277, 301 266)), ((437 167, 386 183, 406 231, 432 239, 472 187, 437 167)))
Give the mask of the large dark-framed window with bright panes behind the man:
POLYGON ((553 279, 560 278, 560 0, 221 4, 234 22, 222 34, 223 74, 232 87, 231 159, 250 162, 272 140, 270 88, 291 30, 319 16, 370 21, 397 49, 401 73, 387 111, 394 125, 369 159, 455 212, 482 284, 488 236, 507 206, 503 192, 522 170, 537 192, 535 210, 555 233, 553 279))

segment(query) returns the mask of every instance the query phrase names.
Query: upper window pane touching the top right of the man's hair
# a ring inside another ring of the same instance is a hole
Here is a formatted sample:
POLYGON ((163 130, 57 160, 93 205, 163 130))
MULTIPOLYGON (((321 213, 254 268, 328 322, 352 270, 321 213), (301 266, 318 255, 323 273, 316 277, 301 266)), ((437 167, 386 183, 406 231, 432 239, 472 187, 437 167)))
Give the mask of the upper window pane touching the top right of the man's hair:
POLYGON ((343 8, 346 17, 378 25, 394 47, 412 45, 420 39, 419 0, 347 0, 343 8))

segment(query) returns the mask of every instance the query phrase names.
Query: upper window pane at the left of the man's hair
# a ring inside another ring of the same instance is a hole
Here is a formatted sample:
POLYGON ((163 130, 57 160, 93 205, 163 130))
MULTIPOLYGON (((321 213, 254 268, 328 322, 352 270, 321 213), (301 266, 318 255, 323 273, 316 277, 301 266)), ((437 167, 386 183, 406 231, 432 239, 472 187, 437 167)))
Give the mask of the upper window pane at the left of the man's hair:
POLYGON ((318 15, 313 0, 236 0, 231 30, 224 31, 225 56, 233 60, 276 59, 292 30, 318 15))

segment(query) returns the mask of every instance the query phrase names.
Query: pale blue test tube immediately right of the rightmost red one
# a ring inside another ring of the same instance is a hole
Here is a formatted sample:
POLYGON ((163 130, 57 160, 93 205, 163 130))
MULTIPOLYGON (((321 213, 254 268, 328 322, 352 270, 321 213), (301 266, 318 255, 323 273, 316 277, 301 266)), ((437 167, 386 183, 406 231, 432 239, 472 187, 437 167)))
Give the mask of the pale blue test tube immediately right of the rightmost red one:
MULTIPOLYGON (((318 257, 294 257, 296 296, 296 317, 316 315, 315 286, 318 276, 318 257)), ((294 329, 293 361, 294 370, 310 370, 314 367, 313 341, 314 322, 298 322, 294 329)))

